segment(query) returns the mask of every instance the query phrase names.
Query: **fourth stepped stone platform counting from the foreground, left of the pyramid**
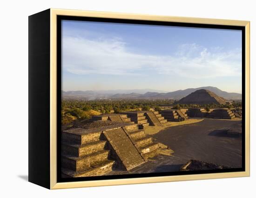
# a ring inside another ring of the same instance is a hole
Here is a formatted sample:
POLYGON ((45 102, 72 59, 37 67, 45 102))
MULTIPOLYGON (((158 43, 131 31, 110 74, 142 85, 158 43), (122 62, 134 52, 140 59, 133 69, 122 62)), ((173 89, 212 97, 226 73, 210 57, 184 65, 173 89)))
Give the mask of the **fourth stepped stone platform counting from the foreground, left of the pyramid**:
POLYGON ((162 110, 161 114, 168 121, 181 122, 188 119, 187 110, 183 111, 178 109, 162 110))

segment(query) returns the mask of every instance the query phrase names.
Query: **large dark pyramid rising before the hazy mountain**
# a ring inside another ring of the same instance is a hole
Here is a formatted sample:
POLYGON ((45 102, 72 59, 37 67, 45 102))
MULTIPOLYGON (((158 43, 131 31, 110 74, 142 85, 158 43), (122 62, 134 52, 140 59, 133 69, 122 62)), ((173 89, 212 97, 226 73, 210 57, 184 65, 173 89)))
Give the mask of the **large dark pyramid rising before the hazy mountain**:
POLYGON ((225 104, 226 100, 222 97, 216 95, 214 92, 210 92, 206 89, 200 89, 195 92, 190 93, 186 97, 180 99, 176 102, 177 104, 198 104, 198 105, 207 105, 207 104, 225 104))

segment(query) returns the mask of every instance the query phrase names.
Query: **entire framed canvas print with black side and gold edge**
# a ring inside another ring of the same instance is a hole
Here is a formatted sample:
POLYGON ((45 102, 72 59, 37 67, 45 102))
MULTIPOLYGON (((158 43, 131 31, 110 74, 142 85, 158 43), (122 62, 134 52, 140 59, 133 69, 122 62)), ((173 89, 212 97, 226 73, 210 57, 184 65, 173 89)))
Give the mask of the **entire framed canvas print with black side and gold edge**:
POLYGON ((29 181, 249 176, 249 21, 29 16, 29 181))

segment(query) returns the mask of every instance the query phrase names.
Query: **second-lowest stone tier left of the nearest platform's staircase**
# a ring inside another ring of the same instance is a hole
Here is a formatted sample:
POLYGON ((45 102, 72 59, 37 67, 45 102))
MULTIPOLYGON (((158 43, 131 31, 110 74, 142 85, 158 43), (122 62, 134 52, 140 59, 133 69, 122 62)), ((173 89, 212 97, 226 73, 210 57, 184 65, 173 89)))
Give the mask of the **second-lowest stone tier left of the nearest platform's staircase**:
POLYGON ((83 157, 72 157, 63 155, 61 156, 61 167, 67 168, 75 172, 84 171, 91 166, 106 161, 109 154, 109 151, 103 150, 83 157))

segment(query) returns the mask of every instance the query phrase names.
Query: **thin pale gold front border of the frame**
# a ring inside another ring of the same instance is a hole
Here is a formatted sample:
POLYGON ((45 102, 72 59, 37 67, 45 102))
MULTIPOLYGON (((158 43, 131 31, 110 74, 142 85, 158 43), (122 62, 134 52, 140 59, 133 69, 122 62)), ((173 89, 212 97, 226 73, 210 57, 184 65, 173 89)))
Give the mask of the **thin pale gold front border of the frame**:
POLYGON ((130 14, 130 13, 110 13, 95 12, 81 10, 65 10, 50 9, 50 189, 61 188, 78 188, 104 185, 128 185, 141 183, 156 183, 198 179, 215 179, 215 178, 234 178, 249 177, 249 157, 250 157, 250 23, 243 20, 220 20, 220 19, 204 19, 190 17, 174 17, 174 16, 157 16, 146 14, 130 14), (61 182, 57 183, 57 15, 66 16, 84 16, 98 18, 114 18, 114 19, 131 19, 131 20, 155 20, 155 21, 172 21, 181 23, 199 23, 199 24, 215 24, 229 26, 245 27, 245 172, 225 172, 225 173, 207 173, 193 175, 148 177, 148 178, 124 178, 110 180, 94 180, 94 181, 78 181, 78 182, 61 182))

